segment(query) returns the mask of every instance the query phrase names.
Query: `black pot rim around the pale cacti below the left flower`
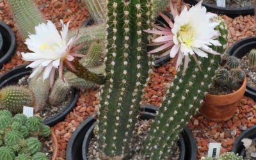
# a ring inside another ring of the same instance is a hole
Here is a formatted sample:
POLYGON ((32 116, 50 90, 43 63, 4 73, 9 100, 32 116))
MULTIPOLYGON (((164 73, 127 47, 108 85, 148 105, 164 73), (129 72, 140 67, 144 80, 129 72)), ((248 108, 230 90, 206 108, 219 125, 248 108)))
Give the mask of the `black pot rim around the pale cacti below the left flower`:
MULTIPOLYGON (((31 68, 26 68, 27 65, 20 65, 18 67, 13 68, 12 70, 9 70, 8 72, 5 72, 0 77, 0 88, 3 88, 4 86, 9 86, 12 84, 17 84, 20 78, 27 76, 31 74, 31 68)), ((65 119, 65 117, 76 107, 76 102, 79 98, 79 91, 74 90, 72 92, 72 101, 63 108, 59 113, 57 113, 54 116, 51 116, 50 118, 47 118, 44 120, 45 125, 55 125, 58 124, 58 122, 61 122, 65 119)))

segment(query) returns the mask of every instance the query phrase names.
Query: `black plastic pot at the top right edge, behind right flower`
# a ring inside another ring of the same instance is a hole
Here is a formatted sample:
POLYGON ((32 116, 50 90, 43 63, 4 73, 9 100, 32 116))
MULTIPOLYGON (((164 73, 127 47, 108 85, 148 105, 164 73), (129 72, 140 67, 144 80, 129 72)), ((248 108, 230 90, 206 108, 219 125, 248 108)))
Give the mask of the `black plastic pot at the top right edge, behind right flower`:
MULTIPOLYGON (((198 1, 195 0, 184 0, 185 3, 195 5, 198 1)), ((203 3, 203 6, 207 8, 208 12, 214 12, 222 15, 227 15, 228 17, 238 17, 239 15, 254 15, 254 8, 252 6, 240 7, 240 8, 229 8, 229 7, 219 7, 214 4, 203 3)))

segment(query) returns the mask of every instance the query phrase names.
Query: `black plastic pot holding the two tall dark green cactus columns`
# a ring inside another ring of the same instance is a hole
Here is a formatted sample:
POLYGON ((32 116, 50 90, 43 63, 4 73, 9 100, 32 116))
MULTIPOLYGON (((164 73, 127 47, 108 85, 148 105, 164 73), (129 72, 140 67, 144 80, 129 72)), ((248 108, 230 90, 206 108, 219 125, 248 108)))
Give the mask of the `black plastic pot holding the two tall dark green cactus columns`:
MULTIPOLYGON (((152 119, 156 114, 156 107, 143 106, 141 112, 141 119, 152 119)), ((76 131, 72 134, 67 146, 67 160, 87 159, 87 148, 93 136, 93 128, 95 123, 95 116, 90 116, 79 125, 76 131)), ((181 150, 180 159, 195 160, 196 159, 196 142, 193 134, 186 127, 182 136, 180 136, 179 147, 181 150)))

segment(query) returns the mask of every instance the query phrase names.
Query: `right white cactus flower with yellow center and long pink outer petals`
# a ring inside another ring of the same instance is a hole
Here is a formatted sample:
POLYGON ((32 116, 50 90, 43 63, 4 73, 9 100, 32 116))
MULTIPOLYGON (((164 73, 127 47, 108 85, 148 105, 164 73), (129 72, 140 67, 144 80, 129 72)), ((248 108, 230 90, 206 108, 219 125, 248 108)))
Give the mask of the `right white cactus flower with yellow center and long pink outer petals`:
MULTIPOLYGON (((220 36, 219 31, 214 30, 219 23, 212 21, 212 18, 218 17, 216 14, 206 12, 206 8, 202 6, 202 1, 189 10, 187 6, 184 6, 180 14, 177 12, 177 7, 173 6, 172 3, 170 3, 170 9, 174 22, 160 13, 168 26, 161 27, 155 24, 154 30, 146 30, 147 33, 159 35, 150 44, 151 46, 159 45, 159 47, 148 53, 165 51, 163 55, 170 54, 171 58, 178 54, 176 69, 179 68, 184 59, 183 73, 188 68, 189 55, 193 56, 198 64, 196 56, 207 58, 208 53, 218 54, 209 47, 211 45, 221 45, 218 40, 214 40, 220 36)), ((199 64, 198 67, 200 67, 199 64)))

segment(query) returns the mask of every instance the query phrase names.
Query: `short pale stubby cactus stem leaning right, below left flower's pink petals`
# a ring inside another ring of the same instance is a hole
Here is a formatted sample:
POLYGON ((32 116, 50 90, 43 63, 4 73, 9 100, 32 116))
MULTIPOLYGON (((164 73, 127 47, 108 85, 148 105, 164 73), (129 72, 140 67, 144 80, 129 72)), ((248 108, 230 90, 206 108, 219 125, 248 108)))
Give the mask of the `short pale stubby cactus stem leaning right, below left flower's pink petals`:
POLYGON ((52 87, 49 97, 50 104, 56 106, 61 104, 61 102, 64 102, 71 89, 71 86, 68 83, 63 82, 59 77, 52 87))

